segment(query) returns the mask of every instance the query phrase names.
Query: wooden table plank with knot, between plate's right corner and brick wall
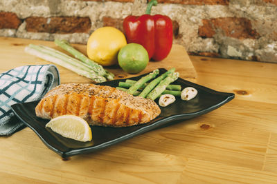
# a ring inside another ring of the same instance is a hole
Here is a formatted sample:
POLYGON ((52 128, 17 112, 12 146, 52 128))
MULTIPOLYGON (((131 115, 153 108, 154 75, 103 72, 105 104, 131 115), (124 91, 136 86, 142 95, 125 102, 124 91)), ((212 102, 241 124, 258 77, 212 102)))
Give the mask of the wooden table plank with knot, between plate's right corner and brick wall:
POLYGON ((235 99, 277 103, 277 65, 231 59, 190 57, 197 83, 236 94, 235 99), (243 66, 243 67, 242 67, 243 66))

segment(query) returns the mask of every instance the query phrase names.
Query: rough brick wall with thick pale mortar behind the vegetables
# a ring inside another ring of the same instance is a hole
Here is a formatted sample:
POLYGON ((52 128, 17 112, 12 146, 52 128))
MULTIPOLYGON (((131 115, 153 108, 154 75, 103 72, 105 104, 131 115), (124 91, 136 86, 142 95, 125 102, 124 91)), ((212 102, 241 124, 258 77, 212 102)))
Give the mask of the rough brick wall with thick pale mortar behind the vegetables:
MULTIPOLYGON (((277 0, 158 0, 189 54, 277 63, 277 0)), ((102 26, 145 12, 147 0, 0 0, 0 36, 86 43, 102 26)))

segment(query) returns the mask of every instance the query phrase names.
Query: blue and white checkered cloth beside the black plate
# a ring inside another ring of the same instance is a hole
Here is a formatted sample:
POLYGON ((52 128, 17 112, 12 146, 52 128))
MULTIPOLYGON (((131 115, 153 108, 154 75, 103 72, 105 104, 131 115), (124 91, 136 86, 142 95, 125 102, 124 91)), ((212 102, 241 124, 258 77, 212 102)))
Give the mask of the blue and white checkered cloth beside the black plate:
POLYGON ((8 136, 24 126, 10 105, 36 101, 60 84, 55 65, 26 65, 0 74, 0 136, 8 136))

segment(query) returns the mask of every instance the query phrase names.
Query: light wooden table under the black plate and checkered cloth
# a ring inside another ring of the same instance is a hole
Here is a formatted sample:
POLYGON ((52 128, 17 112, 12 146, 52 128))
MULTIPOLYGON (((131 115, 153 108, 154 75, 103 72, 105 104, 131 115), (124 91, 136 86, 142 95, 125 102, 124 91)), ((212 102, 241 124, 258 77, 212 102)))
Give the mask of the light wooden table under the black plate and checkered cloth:
MULTIPOLYGON (((53 45, 1 38, 0 72, 47 63, 23 52, 27 42, 53 45)), ((175 45, 173 51, 178 50, 175 45)), ((195 119, 68 161, 49 150, 27 127, 0 137, 0 183, 277 183, 277 64, 190 59, 197 71, 192 80, 233 92, 235 99, 195 119)), ((180 65, 177 70, 185 68, 180 65)), ((59 69, 62 83, 89 82, 59 69)), ((119 73, 117 77, 126 76, 119 73)))

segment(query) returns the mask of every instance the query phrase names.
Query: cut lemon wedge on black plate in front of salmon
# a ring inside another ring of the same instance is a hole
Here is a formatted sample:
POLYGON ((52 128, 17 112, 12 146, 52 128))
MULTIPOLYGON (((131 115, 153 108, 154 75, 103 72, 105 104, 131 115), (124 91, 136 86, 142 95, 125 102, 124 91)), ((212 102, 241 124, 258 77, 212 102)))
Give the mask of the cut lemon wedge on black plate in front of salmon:
POLYGON ((84 119, 74 115, 57 116, 46 124, 51 130, 66 138, 77 141, 91 141, 91 128, 84 119))

